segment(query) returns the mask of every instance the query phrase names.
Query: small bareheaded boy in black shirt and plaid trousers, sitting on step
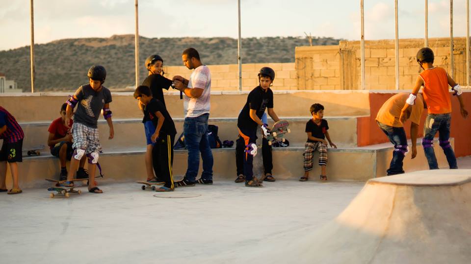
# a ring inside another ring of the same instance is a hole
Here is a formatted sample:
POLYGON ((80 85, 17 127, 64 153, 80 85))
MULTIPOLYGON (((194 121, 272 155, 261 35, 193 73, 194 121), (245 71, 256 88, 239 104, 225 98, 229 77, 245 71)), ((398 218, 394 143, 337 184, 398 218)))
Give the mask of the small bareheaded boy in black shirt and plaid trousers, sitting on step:
POLYGON ((311 105, 311 115, 313 116, 306 123, 306 133, 308 134, 308 141, 304 145, 304 176, 299 181, 307 181, 309 179, 309 171, 313 169, 313 152, 319 151, 319 166, 321 166, 320 179, 327 181, 327 175, 325 173, 325 166, 327 165, 327 141, 330 146, 337 148, 337 146, 330 140, 329 125, 327 120, 322 119, 324 117, 324 106, 318 103, 311 105))

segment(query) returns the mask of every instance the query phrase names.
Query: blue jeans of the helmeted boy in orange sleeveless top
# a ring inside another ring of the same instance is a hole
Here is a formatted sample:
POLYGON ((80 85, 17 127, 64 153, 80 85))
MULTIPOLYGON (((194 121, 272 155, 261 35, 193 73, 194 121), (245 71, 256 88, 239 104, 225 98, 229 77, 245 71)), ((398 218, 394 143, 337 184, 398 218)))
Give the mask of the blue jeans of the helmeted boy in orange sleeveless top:
POLYGON ((428 161, 430 169, 438 169, 437 158, 433 150, 433 137, 438 132, 440 146, 443 148, 446 160, 450 168, 458 168, 453 148, 449 142, 450 138, 451 113, 448 114, 428 114, 423 126, 423 151, 428 161))

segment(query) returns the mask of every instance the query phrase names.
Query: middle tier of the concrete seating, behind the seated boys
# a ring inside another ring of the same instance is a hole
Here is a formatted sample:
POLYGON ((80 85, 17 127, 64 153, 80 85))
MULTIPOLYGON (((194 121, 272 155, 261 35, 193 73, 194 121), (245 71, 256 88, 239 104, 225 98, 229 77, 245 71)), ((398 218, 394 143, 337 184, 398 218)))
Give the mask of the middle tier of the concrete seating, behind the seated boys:
MULTIPOLYGON (((305 127, 309 117, 303 118, 283 118, 290 123, 290 131, 286 138, 291 146, 304 146, 306 143, 305 127)), ((177 137, 183 132, 183 120, 175 119, 177 128, 177 137)), ((327 117, 329 122, 329 134, 335 144, 340 147, 353 147, 357 145, 357 117, 327 117)), ((104 151, 135 148, 145 145, 144 129, 142 119, 123 119, 113 120, 114 139, 108 140, 108 125, 105 120, 100 120, 98 130, 100 131, 100 142, 104 151)), ((272 125, 273 121, 268 120, 272 125)), ((49 136, 48 128, 51 124, 47 122, 26 122, 20 123, 25 132, 23 149, 43 148, 43 152, 49 153, 47 139, 49 136)), ((218 126, 218 135, 221 141, 237 139, 237 119, 209 119, 209 124, 218 126)), ((259 131, 260 133, 260 131, 259 131)), ((259 135, 259 138, 261 136, 259 135)))

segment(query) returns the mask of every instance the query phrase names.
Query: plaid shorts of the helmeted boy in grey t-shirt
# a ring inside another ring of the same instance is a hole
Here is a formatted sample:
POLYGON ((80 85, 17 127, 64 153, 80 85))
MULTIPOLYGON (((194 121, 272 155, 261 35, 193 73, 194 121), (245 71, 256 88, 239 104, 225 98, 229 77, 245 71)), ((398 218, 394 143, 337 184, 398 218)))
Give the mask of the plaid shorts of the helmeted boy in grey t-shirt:
POLYGON ((85 153, 100 152, 102 146, 98 139, 98 128, 74 122, 72 125, 72 137, 74 138, 74 149, 85 149, 85 153))

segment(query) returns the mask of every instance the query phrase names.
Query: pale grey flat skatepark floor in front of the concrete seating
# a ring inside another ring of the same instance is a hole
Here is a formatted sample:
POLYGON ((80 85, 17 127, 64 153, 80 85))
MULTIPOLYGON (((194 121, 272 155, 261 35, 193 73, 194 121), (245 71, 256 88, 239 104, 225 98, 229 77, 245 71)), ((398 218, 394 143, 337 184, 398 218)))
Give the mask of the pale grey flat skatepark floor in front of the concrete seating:
MULTIPOLYGON (((471 168, 471 157, 458 166, 471 168)), ((275 252, 326 224, 363 186, 313 176, 263 188, 216 181, 167 193, 134 182, 104 182, 103 194, 80 187, 83 193, 69 198, 50 198, 46 188, 2 192, 0 262, 240 263, 244 251, 275 252)))

